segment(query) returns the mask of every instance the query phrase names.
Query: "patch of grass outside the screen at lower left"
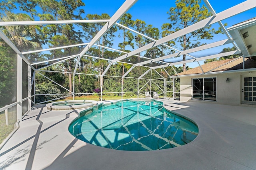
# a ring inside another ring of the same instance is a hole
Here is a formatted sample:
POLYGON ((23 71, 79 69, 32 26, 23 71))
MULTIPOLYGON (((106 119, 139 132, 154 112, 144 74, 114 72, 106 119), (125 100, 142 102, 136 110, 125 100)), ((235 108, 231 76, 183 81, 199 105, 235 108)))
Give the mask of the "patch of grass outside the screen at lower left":
POLYGON ((5 113, 0 113, 0 143, 6 139, 6 137, 12 132, 14 129, 14 124, 12 125, 6 125, 5 121, 5 113))

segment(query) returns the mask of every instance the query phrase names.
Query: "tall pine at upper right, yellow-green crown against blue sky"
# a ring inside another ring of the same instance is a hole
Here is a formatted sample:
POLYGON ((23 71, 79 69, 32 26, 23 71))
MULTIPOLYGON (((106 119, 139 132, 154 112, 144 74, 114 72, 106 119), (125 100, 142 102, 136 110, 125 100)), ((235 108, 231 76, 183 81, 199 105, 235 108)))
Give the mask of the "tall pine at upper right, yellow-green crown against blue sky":
MULTIPOLYGON (((176 0, 176 7, 170 8, 168 15, 170 23, 162 25, 162 29, 166 35, 186 28, 198 21, 204 20, 211 16, 208 9, 202 5, 201 0, 176 0)), ((207 26, 189 34, 183 35, 176 40, 185 51, 200 45, 201 39, 212 39, 215 33, 221 33, 221 28, 215 30, 211 26, 207 26)), ((183 60, 186 60, 186 55, 183 55, 183 60)), ((183 64, 183 71, 186 70, 186 64, 183 64)))

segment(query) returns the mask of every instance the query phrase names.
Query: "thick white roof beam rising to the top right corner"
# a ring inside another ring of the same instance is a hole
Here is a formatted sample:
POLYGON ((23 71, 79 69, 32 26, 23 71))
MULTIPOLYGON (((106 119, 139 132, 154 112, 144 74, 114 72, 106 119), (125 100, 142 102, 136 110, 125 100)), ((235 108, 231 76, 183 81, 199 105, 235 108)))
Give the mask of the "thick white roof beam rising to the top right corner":
POLYGON ((245 2, 242 2, 236 6, 228 8, 227 10, 224 10, 224 11, 216 14, 216 16, 210 16, 209 18, 206 18, 202 21, 198 21, 197 23, 194 23, 193 25, 190 25, 190 26, 183 28, 179 31, 176 31, 170 35, 167 35, 166 37, 158 39, 156 42, 149 43, 147 45, 144 45, 143 47, 140 47, 134 51, 131 51, 128 55, 127 54, 122 55, 122 56, 114 59, 114 62, 120 61, 120 60, 130 57, 132 55, 138 54, 138 53, 145 51, 147 49, 150 49, 152 47, 156 47, 160 44, 166 43, 167 41, 176 39, 178 37, 181 37, 182 35, 186 35, 190 32, 196 31, 200 28, 206 27, 206 26, 216 23, 218 21, 225 20, 226 18, 230 18, 231 16, 234 16, 241 12, 250 10, 250 9, 254 8, 255 6, 256 6, 255 0, 247 0, 245 2))

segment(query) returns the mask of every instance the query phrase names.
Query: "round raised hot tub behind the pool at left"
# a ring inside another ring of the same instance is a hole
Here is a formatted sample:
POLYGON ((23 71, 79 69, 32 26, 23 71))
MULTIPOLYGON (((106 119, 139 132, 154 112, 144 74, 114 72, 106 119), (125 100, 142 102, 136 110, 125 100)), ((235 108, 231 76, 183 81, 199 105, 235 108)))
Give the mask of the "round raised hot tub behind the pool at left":
POLYGON ((65 100, 61 102, 52 102, 46 104, 48 110, 72 110, 83 109, 96 106, 98 103, 94 100, 65 100))

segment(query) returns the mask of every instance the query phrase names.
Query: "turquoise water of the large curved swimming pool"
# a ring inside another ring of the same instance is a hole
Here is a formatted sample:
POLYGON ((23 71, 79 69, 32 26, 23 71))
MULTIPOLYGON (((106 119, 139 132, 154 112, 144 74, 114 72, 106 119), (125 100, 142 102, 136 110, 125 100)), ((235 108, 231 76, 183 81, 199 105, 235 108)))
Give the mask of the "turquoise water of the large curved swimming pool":
POLYGON ((194 123, 161 103, 134 100, 102 106, 74 120, 69 131, 82 141, 116 150, 169 149, 198 135, 194 123))

